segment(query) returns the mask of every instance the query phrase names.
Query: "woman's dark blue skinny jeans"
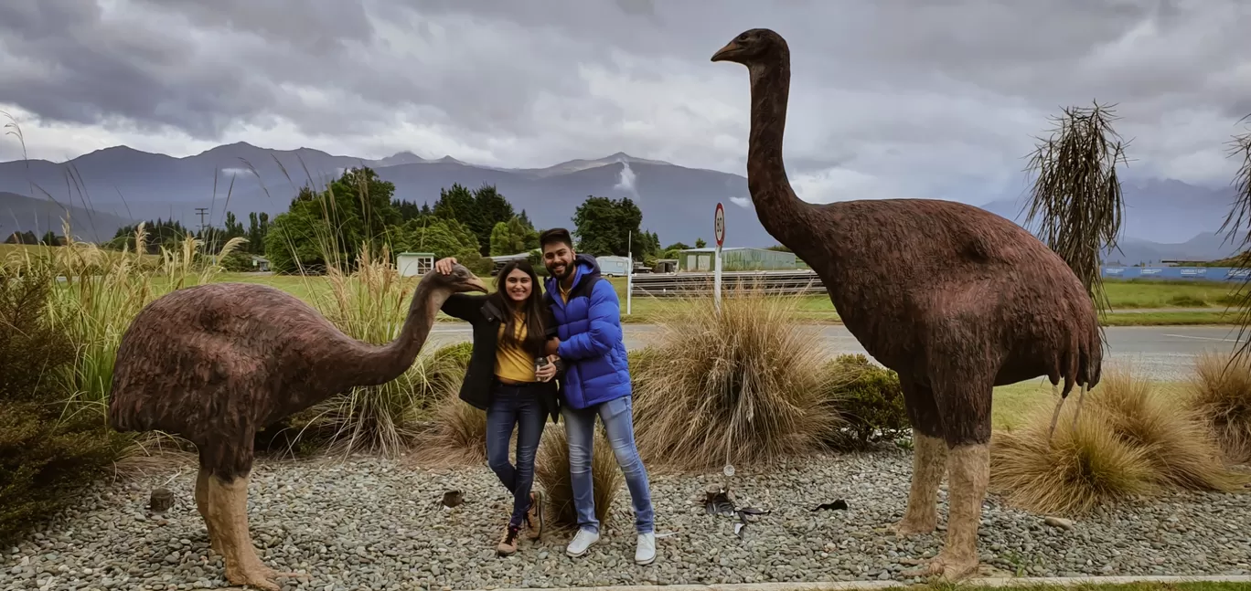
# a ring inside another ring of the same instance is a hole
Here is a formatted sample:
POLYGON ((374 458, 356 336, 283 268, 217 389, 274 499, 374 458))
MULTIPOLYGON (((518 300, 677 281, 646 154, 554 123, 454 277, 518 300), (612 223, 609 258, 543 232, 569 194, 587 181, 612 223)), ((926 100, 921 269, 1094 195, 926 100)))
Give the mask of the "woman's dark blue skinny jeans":
POLYGON ((487 464, 513 492, 513 516, 508 525, 520 527, 530 509, 534 485, 534 454, 543 436, 547 415, 543 402, 527 386, 495 382, 487 406, 487 464), (517 426, 517 466, 508 461, 508 441, 517 426))

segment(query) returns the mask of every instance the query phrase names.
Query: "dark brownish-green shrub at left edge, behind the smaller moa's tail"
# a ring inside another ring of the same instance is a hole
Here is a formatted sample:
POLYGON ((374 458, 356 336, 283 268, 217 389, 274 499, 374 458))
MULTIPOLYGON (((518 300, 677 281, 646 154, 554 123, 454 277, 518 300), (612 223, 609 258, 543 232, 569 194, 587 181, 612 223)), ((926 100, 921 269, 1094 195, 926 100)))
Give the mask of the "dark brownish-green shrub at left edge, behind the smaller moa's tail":
POLYGON ((49 379, 74 361, 48 319, 54 284, 46 265, 0 267, 0 544, 70 505, 131 441, 91 409, 66 406, 63 382, 49 379))

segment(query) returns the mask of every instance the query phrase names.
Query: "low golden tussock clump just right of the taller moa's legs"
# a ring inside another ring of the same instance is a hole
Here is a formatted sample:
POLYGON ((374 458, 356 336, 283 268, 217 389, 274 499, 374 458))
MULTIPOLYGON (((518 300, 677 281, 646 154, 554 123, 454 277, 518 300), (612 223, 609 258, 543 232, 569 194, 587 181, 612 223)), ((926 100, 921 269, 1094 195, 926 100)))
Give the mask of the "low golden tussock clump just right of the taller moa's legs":
POLYGON ((1083 405, 1077 429, 1071 429, 1075 409, 1072 401, 1065 405, 1051 445, 1051 409, 1036 409, 1020 430, 997 431, 991 444, 991 489, 1026 511, 1062 515, 1085 515, 1096 506, 1152 492, 1147 452, 1113 432, 1107 411, 1098 405, 1083 405))

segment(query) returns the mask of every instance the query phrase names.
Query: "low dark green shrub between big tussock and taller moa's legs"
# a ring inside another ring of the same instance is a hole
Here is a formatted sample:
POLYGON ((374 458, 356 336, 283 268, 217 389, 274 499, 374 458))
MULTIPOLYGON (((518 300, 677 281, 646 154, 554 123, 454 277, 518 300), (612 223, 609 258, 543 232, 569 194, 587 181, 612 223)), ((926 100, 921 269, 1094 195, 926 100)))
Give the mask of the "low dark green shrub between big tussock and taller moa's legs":
POLYGON ((828 400, 846 421, 828 437, 831 446, 861 450, 909 432, 898 374, 863 355, 839 355, 826 364, 826 371, 828 400))

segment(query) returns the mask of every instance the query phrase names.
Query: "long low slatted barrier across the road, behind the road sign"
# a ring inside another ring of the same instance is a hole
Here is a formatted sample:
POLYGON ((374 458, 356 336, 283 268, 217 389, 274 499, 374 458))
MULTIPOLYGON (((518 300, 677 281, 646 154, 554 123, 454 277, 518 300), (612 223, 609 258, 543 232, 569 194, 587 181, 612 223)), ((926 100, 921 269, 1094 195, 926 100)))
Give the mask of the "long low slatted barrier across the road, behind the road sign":
MULTIPOLYGON (((637 274, 631 280, 634 297, 692 297, 711 294, 713 274, 673 272, 637 274)), ((824 295, 821 277, 809 270, 802 271, 723 271, 723 291, 766 291, 778 295, 824 295)))

